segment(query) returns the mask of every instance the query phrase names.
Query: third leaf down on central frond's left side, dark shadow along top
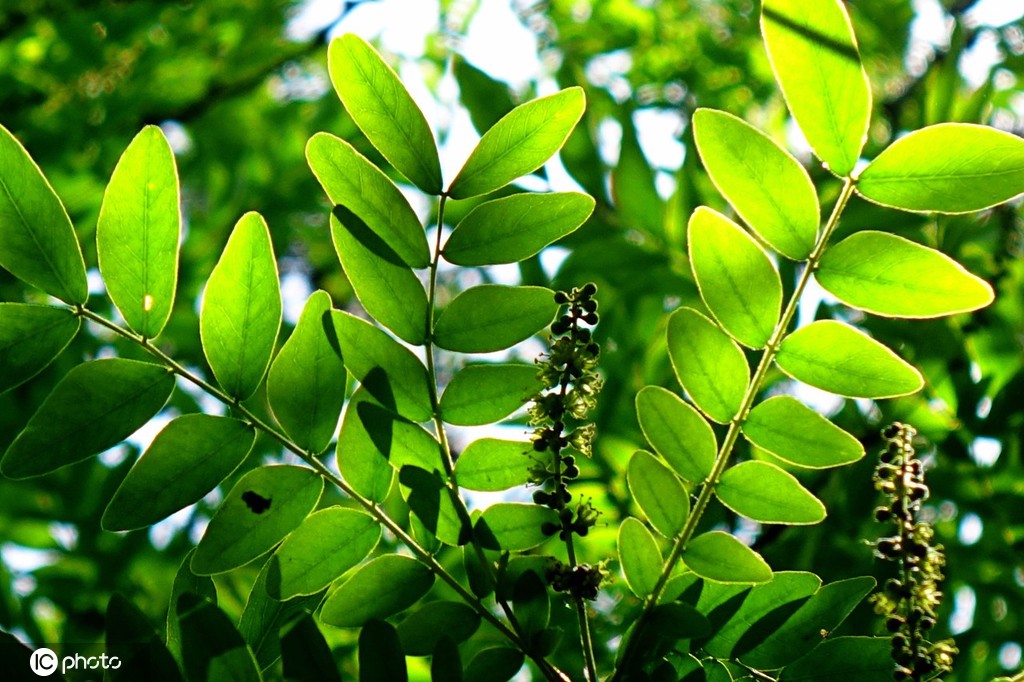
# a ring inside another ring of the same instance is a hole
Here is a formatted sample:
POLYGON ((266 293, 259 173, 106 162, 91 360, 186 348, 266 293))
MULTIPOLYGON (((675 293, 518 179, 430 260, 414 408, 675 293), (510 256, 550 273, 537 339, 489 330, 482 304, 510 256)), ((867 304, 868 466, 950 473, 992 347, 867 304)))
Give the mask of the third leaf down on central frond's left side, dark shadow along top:
POLYGON ((362 220, 342 206, 331 214, 334 248, 359 303, 402 341, 426 338, 427 294, 398 256, 362 220))

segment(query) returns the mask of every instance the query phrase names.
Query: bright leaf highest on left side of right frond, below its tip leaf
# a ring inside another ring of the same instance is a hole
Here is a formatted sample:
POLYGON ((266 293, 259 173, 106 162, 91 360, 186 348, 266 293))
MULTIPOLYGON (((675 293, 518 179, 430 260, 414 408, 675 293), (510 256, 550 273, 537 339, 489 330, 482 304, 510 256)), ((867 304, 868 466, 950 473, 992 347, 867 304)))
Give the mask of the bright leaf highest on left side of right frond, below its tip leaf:
MULTIPOLYGON (((694 112, 693 138, 715 186, 751 229, 786 258, 806 259, 817 239, 820 207, 804 167, 725 112, 694 112)), ((753 285, 751 290, 758 291, 753 285)))

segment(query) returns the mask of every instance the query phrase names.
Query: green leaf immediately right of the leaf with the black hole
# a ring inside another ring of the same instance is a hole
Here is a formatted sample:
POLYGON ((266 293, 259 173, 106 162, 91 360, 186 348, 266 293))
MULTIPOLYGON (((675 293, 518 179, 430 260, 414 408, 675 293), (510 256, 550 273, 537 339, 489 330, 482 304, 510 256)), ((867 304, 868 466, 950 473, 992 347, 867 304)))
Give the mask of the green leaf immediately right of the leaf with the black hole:
POLYGON ((306 517, 270 557, 267 593, 285 600, 319 592, 367 558, 381 538, 373 516, 328 507, 306 517))

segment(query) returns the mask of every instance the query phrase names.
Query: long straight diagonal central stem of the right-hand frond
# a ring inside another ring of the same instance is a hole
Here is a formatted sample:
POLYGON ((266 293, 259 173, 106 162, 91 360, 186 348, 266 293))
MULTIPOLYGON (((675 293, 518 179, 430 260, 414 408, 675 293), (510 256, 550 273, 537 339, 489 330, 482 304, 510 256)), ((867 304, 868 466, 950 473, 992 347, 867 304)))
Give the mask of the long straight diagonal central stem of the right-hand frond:
POLYGON ((811 275, 814 273, 814 270, 818 266, 818 262, 821 260, 821 254, 824 252, 831 233, 839 224, 840 216, 846 209, 847 202, 850 201, 850 197, 853 195, 853 179, 846 178, 843 184, 843 190, 840 193, 839 199, 836 201, 836 206, 833 208, 833 212, 828 216, 828 221, 825 222, 824 229, 821 230, 821 236, 814 245, 811 255, 807 257, 807 264, 805 265, 804 270, 800 273, 800 279, 797 281, 797 286, 793 291, 793 295, 790 297, 785 310, 782 311, 782 315, 779 317, 778 324, 775 326, 775 330, 772 332, 771 338, 768 339, 768 343, 762 352, 761 360, 758 363, 757 370, 755 370, 754 376, 751 378, 751 382, 746 387, 746 392, 743 394, 743 399, 739 404, 739 410, 736 412, 736 416, 733 420, 729 422, 729 429, 726 431, 725 438, 722 440, 722 446, 719 447, 711 473, 700 486, 700 493, 697 495, 696 502, 693 503, 693 509, 686 518, 686 523, 684 524, 682 531, 680 531, 679 537, 676 539, 676 542, 672 547, 672 551, 669 553, 669 558, 665 561, 665 565, 662 568, 662 574, 658 577, 657 583, 654 585, 654 590, 644 602, 643 611, 637 620, 633 636, 630 637, 629 641, 626 643, 626 651, 623 653, 621 658, 622 665, 616 667, 615 671, 609 678, 609 681, 611 682, 620 678, 621 671, 627 668, 630 659, 636 654, 637 646, 643 640, 642 637, 637 637, 637 634, 641 633, 650 615, 651 609, 653 609, 653 607, 656 606, 657 602, 660 600, 662 595, 665 592, 665 587, 668 585, 669 579, 672 577, 673 569, 679 562, 680 557, 682 557, 687 544, 689 544, 690 540, 693 538, 693 534, 696 531, 700 518, 703 516, 705 511, 708 509, 708 505, 711 503, 711 499, 715 493, 715 486, 718 484, 719 478, 722 476, 722 472, 725 471, 725 468, 729 464, 729 458, 732 456, 732 449, 735 446, 736 440, 739 437, 743 422, 746 421, 746 416, 750 414, 751 408, 754 407, 754 400, 761 392, 762 384, 768 374, 768 369, 771 367, 772 361, 778 354, 779 345, 782 342, 782 338, 786 334, 786 330, 790 328, 790 324, 797 314, 797 309, 800 305, 800 299, 803 296, 804 290, 807 288, 807 284, 810 282, 811 275))

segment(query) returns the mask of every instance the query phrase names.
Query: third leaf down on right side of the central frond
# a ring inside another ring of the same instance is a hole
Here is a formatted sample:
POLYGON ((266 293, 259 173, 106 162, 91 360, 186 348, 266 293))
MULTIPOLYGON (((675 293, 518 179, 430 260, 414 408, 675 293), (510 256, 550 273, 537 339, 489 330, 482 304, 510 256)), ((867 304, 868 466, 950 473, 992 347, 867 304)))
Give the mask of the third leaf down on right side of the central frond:
POLYGON ((455 297, 434 325, 434 341, 445 350, 505 350, 551 324, 558 306, 544 287, 480 285, 455 297))

